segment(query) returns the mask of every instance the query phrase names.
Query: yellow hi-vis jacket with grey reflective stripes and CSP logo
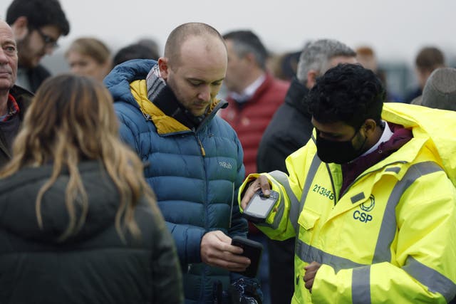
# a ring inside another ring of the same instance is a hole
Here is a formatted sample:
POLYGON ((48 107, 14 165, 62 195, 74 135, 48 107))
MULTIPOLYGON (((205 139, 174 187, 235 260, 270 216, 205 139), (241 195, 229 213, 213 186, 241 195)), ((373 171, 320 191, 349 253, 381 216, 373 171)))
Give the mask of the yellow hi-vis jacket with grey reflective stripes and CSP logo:
POLYGON ((286 159, 289 176, 266 174, 279 200, 257 227, 271 239, 296 236, 291 303, 455 297, 456 112, 390 103, 382 116, 413 130, 413 139, 343 194, 341 166, 321 162, 313 140, 286 159), (312 261, 322 265, 310 293, 303 277, 312 261))

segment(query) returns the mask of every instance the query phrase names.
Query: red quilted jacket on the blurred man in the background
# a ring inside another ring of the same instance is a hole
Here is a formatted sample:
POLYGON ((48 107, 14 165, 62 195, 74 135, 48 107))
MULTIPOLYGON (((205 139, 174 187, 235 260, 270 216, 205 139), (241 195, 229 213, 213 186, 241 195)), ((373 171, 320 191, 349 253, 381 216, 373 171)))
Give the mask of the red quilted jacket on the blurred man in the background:
POLYGON ((244 149, 244 166, 246 176, 257 172, 257 150, 261 136, 276 112, 284 103, 286 91, 290 84, 284 80, 266 74, 266 79, 247 102, 238 104, 227 98, 229 107, 221 115, 237 132, 244 149))

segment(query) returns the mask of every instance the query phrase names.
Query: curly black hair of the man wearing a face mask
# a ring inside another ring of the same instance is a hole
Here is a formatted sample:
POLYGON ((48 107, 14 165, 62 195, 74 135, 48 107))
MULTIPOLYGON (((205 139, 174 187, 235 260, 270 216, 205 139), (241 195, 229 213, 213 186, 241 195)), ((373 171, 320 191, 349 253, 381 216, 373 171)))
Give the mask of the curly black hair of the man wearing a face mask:
POLYGON ((309 112, 322 123, 344 122, 361 127, 371 118, 380 124, 385 88, 372 70, 341 63, 317 78, 306 96, 309 112))

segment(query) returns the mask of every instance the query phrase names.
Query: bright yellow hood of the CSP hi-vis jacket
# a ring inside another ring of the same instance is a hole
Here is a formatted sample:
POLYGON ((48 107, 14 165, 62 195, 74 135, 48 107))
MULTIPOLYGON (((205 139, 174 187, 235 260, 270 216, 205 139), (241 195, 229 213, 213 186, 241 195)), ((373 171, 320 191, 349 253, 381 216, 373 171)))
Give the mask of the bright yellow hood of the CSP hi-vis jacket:
POLYGON ((427 146, 456 185, 456 112, 405 103, 385 103, 382 118, 411 129, 414 137, 427 139, 427 146))

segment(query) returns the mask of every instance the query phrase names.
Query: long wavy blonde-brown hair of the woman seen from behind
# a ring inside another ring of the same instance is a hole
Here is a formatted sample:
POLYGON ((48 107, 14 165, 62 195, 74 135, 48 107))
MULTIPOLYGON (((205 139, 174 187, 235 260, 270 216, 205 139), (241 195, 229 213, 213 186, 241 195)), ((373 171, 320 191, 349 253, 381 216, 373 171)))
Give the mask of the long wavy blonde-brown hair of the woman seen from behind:
POLYGON ((158 210, 155 196, 145 182, 142 162, 119 140, 110 93, 102 83, 90 78, 78 75, 48 78, 26 112, 13 154, 0 177, 8 177, 26 166, 53 164, 51 177, 36 197, 36 219, 41 229, 43 194, 56 182, 61 169, 68 168, 65 203, 69 222, 60 240, 76 235, 86 221, 88 196, 78 170, 81 160, 103 162, 118 189, 120 206, 115 229, 123 241, 125 228, 133 236, 140 236, 134 210, 141 197, 145 197, 154 211, 158 210), (80 216, 76 214, 77 204, 83 209, 80 216))

